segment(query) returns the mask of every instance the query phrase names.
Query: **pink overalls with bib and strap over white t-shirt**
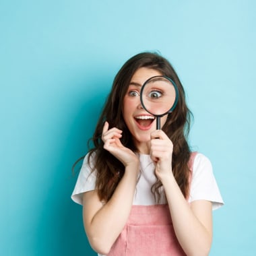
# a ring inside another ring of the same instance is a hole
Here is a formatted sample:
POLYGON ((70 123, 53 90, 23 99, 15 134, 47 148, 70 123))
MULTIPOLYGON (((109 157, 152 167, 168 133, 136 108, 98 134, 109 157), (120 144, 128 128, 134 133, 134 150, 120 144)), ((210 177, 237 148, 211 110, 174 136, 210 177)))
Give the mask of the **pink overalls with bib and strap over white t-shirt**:
MULTIPOLYGON (((191 154, 192 170, 196 152, 191 154)), ((108 256, 183 256, 168 204, 133 205, 123 231, 108 256)))

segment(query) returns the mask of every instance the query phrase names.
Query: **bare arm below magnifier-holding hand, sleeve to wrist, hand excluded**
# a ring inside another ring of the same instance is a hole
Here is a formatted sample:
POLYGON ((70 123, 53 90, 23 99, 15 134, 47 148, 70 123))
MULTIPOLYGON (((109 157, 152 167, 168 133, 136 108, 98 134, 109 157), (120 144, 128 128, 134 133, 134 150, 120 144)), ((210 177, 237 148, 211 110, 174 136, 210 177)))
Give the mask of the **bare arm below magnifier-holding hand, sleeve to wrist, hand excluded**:
POLYGON ((205 256, 212 244, 212 203, 199 200, 189 205, 174 177, 163 181, 175 234, 189 256, 205 256))

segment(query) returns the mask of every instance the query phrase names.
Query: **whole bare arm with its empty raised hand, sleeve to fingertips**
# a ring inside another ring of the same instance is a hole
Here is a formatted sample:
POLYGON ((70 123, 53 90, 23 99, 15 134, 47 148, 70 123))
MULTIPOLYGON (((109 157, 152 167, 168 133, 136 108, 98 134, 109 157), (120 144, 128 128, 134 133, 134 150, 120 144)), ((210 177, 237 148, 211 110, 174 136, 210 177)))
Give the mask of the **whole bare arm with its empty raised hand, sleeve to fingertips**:
POLYGON ((125 174, 108 202, 102 204, 96 190, 84 193, 84 228, 92 248, 98 253, 107 254, 123 230, 131 211, 139 160, 131 150, 124 148, 119 141, 117 129, 103 129, 104 148, 116 156, 125 166, 125 174))

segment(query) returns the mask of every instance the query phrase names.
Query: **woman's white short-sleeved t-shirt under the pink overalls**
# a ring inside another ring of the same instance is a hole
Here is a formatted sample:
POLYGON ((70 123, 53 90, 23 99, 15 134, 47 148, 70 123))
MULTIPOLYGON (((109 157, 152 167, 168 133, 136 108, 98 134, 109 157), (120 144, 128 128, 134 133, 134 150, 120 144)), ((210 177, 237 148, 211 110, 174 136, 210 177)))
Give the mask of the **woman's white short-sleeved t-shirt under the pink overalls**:
MULTIPOLYGON (((136 186, 133 205, 154 205, 156 201, 154 195, 151 193, 151 187, 156 182, 154 164, 150 159, 150 155, 145 154, 139 154, 139 162, 141 176, 136 186)), ((71 199, 73 199, 75 203, 82 205, 83 193, 94 190, 95 182, 96 174, 95 172, 91 172, 91 168, 88 166, 88 155, 86 155, 71 199)), ((210 160, 203 154, 198 153, 193 162, 189 202, 202 199, 212 201, 213 210, 224 203, 212 171, 210 160)), ((161 198, 160 203, 166 203, 164 197, 161 198)))

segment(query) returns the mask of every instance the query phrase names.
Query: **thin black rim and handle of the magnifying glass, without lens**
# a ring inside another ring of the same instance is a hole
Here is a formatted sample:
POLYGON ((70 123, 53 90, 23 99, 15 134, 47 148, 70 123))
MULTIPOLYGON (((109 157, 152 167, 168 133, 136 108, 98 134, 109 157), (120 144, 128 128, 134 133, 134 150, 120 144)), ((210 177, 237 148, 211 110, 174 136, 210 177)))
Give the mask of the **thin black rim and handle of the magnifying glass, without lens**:
POLYGON ((150 77, 149 79, 146 80, 146 82, 144 82, 144 84, 141 86, 141 90, 140 90, 140 102, 141 102, 141 105, 142 107, 148 112, 150 113, 151 115, 153 115, 154 117, 156 117, 156 129, 157 130, 160 130, 160 117, 163 117, 164 115, 167 115, 167 114, 170 114, 172 113, 172 111, 174 110, 174 108, 177 106, 177 103, 178 103, 178 100, 179 100, 179 90, 178 90, 178 87, 177 85, 174 83, 174 81, 172 79, 170 79, 170 77, 167 77, 166 75, 155 75, 153 77, 150 77), (174 100, 174 103, 172 104, 172 106, 170 106, 170 109, 167 110, 165 113, 162 113, 160 115, 156 115, 152 112, 150 112, 144 102, 143 102, 143 91, 144 91, 144 88, 146 87, 146 85, 148 84, 148 82, 154 78, 157 78, 157 77, 164 77, 165 79, 167 79, 171 84, 172 86, 174 87, 174 90, 175 90, 175 100, 174 100))

